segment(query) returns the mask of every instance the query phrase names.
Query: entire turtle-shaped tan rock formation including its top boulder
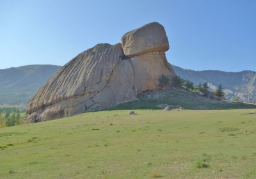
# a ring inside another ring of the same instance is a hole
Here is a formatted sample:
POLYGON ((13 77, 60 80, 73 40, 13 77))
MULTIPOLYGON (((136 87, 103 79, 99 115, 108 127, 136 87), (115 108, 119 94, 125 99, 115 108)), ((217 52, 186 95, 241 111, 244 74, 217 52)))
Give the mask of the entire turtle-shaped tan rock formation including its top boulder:
POLYGON ((157 22, 126 33, 122 44, 95 45, 35 93, 26 108, 26 122, 97 111, 160 89, 157 79, 161 75, 174 76, 164 54, 168 48, 164 28, 157 22))

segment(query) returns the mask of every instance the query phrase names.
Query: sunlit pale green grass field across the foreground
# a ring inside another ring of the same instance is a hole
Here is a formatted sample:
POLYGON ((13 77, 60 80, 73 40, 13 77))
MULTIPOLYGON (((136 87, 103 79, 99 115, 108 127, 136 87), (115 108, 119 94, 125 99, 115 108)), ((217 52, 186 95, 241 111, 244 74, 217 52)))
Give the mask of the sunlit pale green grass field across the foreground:
POLYGON ((136 113, 0 128, 0 178, 256 178, 256 109, 136 113))

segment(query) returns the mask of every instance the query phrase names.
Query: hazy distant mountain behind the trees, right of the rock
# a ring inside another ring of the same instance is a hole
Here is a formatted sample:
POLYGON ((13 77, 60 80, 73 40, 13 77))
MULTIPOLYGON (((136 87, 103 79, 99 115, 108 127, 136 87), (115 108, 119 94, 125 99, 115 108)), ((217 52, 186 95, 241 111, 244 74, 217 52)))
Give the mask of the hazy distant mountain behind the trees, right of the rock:
POLYGON ((194 84, 208 82, 211 91, 218 86, 225 89, 225 97, 231 99, 234 96, 244 102, 256 100, 256 72, 244 70, 241 72, 222 72, 219 70, 186 70, 179 66, 173 66, 175 74, 182 79, 187 79, 194 84))

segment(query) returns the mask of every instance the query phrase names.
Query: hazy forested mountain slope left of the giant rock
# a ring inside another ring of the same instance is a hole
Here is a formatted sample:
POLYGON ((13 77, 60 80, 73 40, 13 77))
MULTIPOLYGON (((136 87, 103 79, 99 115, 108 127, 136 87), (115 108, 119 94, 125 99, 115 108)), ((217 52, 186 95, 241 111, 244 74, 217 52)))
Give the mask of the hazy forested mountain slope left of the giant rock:
POLYGON ((0 70, 0 104, 26 104, 60 67, 28 65, 0 70))

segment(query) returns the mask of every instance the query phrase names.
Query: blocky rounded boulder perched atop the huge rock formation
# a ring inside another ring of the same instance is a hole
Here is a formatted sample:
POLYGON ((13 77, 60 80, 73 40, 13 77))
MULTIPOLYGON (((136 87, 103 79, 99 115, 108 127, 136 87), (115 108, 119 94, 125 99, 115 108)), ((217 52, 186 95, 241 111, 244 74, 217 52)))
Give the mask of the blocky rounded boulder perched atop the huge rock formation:
POLYGON ((164 27, 152 22, 122 36, 125 56, 137 56, 146 52, 165 52, 169 42, 164 27))

